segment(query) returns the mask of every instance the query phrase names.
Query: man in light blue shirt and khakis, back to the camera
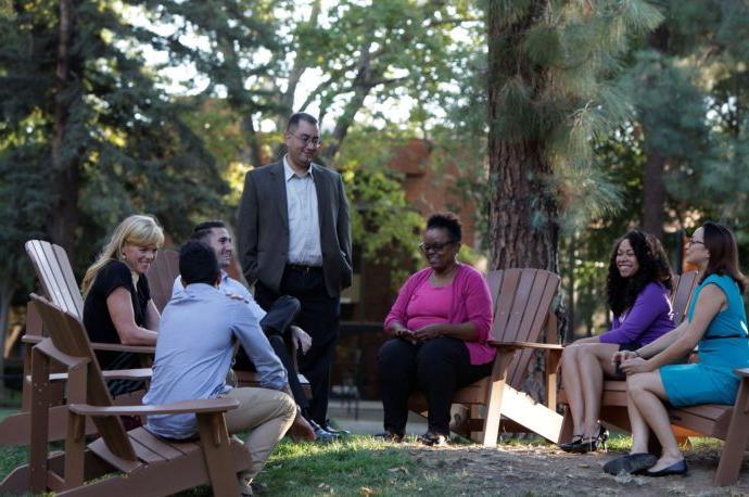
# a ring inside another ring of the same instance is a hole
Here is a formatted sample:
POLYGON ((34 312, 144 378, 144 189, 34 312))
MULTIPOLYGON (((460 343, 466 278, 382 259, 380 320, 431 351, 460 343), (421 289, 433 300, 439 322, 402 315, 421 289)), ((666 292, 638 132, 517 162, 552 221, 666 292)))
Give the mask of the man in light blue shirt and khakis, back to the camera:
MULTIPOLYGON (((185 290, 169 301, 162 315, 153 378, 143 404, 221 396, 239 400, 239 408, 225 416, 229 433, 250 432, 245 446, 251 467, 241 475, 249 488, 290 426, 302 436, 314 435, 289 395, 283 365, 257 317, 242 300, 218 289, 220 270, 213 248, 188 241, 180 248, 179 271, 185 290), (263 387, 232 388, 226 384, 236 340, 255 365, 263 387)), ((198 431, 194 415, 150 416, 145 426, 174 439, 191 438, 198 431)))

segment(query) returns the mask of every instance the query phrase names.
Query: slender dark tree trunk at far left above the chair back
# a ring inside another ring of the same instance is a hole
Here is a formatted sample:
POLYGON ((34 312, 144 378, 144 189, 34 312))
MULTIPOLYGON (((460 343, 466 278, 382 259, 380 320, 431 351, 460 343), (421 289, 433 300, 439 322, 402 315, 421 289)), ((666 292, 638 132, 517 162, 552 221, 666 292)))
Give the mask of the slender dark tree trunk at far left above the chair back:
POLYGON ((52 242, 73 253, 75 228, 78 225, 79 165, 77 154, 64 150, 71 105, 71 39, 75 24, 75 2, 60 1, 60 30, 58 39, 56 88, 54 97, 54 131, 52 136, 52 186, 53 216, 50 216, 47 232, 52 242))

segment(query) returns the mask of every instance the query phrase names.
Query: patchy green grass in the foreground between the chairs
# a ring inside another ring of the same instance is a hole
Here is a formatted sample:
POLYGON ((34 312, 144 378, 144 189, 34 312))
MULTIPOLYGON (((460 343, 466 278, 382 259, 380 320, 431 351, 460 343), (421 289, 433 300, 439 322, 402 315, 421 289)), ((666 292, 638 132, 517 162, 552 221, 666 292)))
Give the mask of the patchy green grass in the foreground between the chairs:
MULTIPOLYGON (((613 434, 609 439, 609 449, 612 454, 625 451, 631 443, 630 436, 613 434)), ((696 454, 720 449, 720 443, 713 439, 693 438, 693 443, 695 445, 689 451, 693 460, 698 459, 696 454)), ((59 449, 61 446, 58 443, 52 447, 59 449)), ((24 463, 26 458, 25 447, 0 447, 0 477, 24 463)), ((571 473, 580 473, 594 482, 589 490, 606 483, 612 492, 626 492, 621 486, 625 483, 612 477, 610 481, 600 480, 597 460, 595 457, 579 459, 561 455, 538 437, 506 437, 498 449, 482 449, 460 442, 456 442, 452 448, 432 449, 416 444, 412 438, 405 444, 389 444, 365 435, 353 435, 327 445, 295 444, 284 439, 274 450, 256 483, 257 495, 261 496, 432 497, 498 495, 507 492, 515 495, 519 488, 525 488, 528 495, 544 495, 545 490, 567 494, 571 490, 567 486, 554 490, 546 485, 548 482, 568 485, 567 480, 556 475, 567 474, 569 477, 571 473), (511 480, 518 474, 517 480, 511 480)), ((710 466, 708 479, 714 471, 710 466)), ((632 485, 638 488, 634 483, 632 485)), ((179 494, 180 497, 211 495, 208 485, 179 494)))

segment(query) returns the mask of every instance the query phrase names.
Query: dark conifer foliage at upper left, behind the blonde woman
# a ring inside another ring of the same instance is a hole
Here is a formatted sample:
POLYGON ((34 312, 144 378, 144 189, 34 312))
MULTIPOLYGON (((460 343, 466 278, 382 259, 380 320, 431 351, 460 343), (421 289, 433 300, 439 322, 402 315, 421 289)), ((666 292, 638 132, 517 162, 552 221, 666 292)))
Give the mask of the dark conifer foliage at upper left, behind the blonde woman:
MULTIPOLYGON (((0 17, 0 202, 4 269, 29 267, 22 244, 47 238, 61 195, 78 201, 74 264, 90 264, 106 233, 127 214, 156 215, 177 240, 198 216, 216 212, 226 191, 213 157, 179 118, 187 112, 157 86, 132 47, 138 28, 122 2, 73 2, 67 89, 55 82, 58 2, 14 3, 0 17), (61 154, 53 160, 55 102, 63 104, 61 154), (74 175, 63 192, 55 174, 74 175)), ((23 280, 20 280, 23 281, 23 280)))

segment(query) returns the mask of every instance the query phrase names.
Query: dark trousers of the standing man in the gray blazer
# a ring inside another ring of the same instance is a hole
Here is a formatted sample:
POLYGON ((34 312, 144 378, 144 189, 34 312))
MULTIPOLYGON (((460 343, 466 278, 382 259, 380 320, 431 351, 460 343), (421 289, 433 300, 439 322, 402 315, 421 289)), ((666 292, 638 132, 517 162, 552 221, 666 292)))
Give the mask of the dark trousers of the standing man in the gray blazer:
POLYGON ((340 297, 330 297, 325 288, 321 268, 302 269, 287 266, 281 278, 280 293, 261 281, 255 283, 255 300, 268 308, 279 295, 296 297, 301 310, 294 324, 309 333, 313 344, 306 354, 299 354, 300 372, 309 380, 313 398, 306 416, 318 424, 328 418, 330 368, 335 355, 338 324, 341 313, 340 297))

